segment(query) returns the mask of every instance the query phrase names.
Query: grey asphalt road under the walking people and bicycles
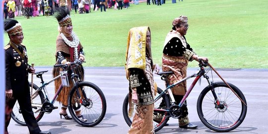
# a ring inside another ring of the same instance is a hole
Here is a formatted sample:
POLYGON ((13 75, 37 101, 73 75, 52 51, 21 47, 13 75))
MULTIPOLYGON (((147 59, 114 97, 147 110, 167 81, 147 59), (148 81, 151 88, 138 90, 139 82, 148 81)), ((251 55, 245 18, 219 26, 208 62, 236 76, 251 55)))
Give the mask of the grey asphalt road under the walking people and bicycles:
MULTIPOLYGON (((188 75, 198 68, 189 68, 188 75)), ((44 80, 52 79, 52 67, 36 67, 36 71, 49 70, 44 74, 44 80)), ((236 85, 245 95, 248 103, 248 112, 244 122, 232 134, 268 134, 268 69, 217 69, 221 76, 236 85)), ((107 111, 103 121, 92 128, 81 127, 72 120, 60 119, 59 109, 51 114, 45 114, 39 122, 42 131, 51 131, 52 134, 127 134, 127 126, 123 114, 122 105, 128 93, 128 81, 124 67, 86 67, 85 81, 98 85, 105 94, 107 111)), ((216 75, 214 81, 220 81, 216 75)), ((29 78, 30 80, 30 78, 29 78)), ((158 86, 164 89, 164 81, 155 75, 158 86)), ((188 86, 193 79, 188 81, 188 86)), ((34 83, 40 85, 38 78, 34 77, 34 83)), ((201 85, 197 84, 187 99, 189 118, 191 123, 198 125, 198 129, 187 130, 178 127, 177 119, 170 119, 169 126, 164 127, 157 134, 208 134, 215 133, 207 129, 200 121, 196 103, 201 90, 206 86, 203 79, 201 85)), ((50 98, 54 96, 54 84, 47 86, 50 98)), ((56 102, 55 106, 59 106, 56 102)), ((27 127, 20 126, 11 120, 8 127, 9 134, 29 134, 27 127)))

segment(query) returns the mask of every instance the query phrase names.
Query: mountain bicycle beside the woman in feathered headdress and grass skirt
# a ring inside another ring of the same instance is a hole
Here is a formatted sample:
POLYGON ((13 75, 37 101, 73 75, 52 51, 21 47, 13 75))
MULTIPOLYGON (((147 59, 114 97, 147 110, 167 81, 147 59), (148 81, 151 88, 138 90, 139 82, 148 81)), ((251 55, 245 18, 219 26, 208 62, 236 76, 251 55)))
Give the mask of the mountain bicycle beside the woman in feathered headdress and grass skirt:
MULTIPOLYGON (((105 96, 97 85, 88 81, 80 81, 79 74, 75 73, 75 69, 82 63, 83 62, 78 61, 70 63, 70 66, 55 65, 54 67, 62 67, 64 71, 62 71, 60 75, 56 76, 48 82, 45 82, 42 76, 48 70, 34 73, 38 78, 41 79, 42 83, 42 85, 39 87, 36 84, 33 84, 33 89, 35 91, 33 91, 31 95, 32 109, 37 122, 41 120, 45 113, 50 114, 54 109, 58 109, 58 107, 54 106, 54 103, 58 95, 61 93, 64 84, 68 82, 68 80, 66 80, 67 77, 71 78, 71 81, 74 85, 68 95, 68 110, 72 119, 83 127, 93 127, 102 121, 105 116, 107 107, 105 96), (58 91, 55 93, 55 96, 50 101, 46 86, 58 78, 62 78, 62 85, 59 87, 58 91), (65 82, 63 79, 65 79, 65 82), (83 115, 87 121, 81 121, 75 115, 74 109, 80 109, 81 115, 83 115)), ((31 86, 31 82, 29 82, 29 84, 31 86)), ((22 126, 26 126, 26 123, 21 114, 21 109, 17 102, 12 110, 11 118, 16 123, 22 126)))

